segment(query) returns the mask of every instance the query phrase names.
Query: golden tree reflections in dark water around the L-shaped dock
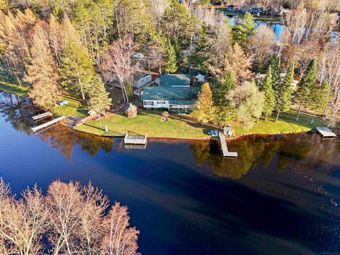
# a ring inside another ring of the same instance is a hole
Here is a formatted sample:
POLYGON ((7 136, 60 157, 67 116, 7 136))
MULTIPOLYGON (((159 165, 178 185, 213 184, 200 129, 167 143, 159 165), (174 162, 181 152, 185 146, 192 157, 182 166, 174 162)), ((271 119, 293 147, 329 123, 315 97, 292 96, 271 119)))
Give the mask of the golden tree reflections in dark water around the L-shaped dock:
POLYGON ((229 179, 240 179, 256 166, 284 171, 290 162, 301 162, 306 158, 308 162, 329 162, 340 151, 339 142, 322 140, 317 134, 249 136, 229 141, 227 145, 230 151, 238 152, 237 159, 223 158, 217 140, 190 142, 199 166, 207 164, 214 174, 229 179))

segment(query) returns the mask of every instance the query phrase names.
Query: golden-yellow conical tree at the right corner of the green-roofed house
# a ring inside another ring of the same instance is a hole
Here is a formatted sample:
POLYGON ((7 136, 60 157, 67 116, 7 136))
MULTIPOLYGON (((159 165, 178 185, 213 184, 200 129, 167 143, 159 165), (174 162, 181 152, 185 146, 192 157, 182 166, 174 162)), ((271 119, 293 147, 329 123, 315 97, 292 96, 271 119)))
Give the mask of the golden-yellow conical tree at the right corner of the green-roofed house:
POLYGON ((212 91, 208 83, 203 84, 198 98, 196 101, 196 107, 193 111, 193 116, 196 117, 202 125, 207 123, 212 117, 212 91))

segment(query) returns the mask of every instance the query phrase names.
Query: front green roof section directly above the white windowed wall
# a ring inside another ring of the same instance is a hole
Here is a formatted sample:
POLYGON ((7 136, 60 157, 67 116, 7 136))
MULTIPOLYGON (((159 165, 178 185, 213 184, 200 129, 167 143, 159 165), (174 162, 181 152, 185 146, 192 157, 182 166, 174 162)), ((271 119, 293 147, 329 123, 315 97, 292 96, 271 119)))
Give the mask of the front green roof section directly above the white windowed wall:
POLYGON ((197 99, 199 91, 199 86, 188 88, 149 86, 143 90, 142 100, 193 101, 197 99))

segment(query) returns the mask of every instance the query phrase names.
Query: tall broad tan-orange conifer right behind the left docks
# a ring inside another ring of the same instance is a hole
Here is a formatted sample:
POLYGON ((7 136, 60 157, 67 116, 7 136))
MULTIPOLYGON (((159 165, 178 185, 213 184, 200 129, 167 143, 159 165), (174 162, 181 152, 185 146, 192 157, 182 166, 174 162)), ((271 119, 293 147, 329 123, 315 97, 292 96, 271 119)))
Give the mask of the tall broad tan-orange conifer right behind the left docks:
POLYGON ((54 106, 60 91, 57 64, 50 52, 47 37, 39 24, 34 28, 30 56, 31 61, 26 75, 26 81, 32 86, 29 96, 40 106, 54 106))

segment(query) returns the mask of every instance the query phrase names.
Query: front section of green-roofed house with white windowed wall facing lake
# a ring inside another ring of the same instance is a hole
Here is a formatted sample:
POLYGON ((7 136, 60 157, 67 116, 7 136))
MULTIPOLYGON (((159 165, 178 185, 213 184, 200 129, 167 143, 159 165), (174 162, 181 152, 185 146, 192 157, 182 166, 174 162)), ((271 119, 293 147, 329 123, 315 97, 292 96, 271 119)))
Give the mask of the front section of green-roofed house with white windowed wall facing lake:
POLYGON ((168 110, 190 111, 195 104, 199 91, 199 86, 149 86, 142 93, 143 106, 147 109, 166 108, 168 110))

